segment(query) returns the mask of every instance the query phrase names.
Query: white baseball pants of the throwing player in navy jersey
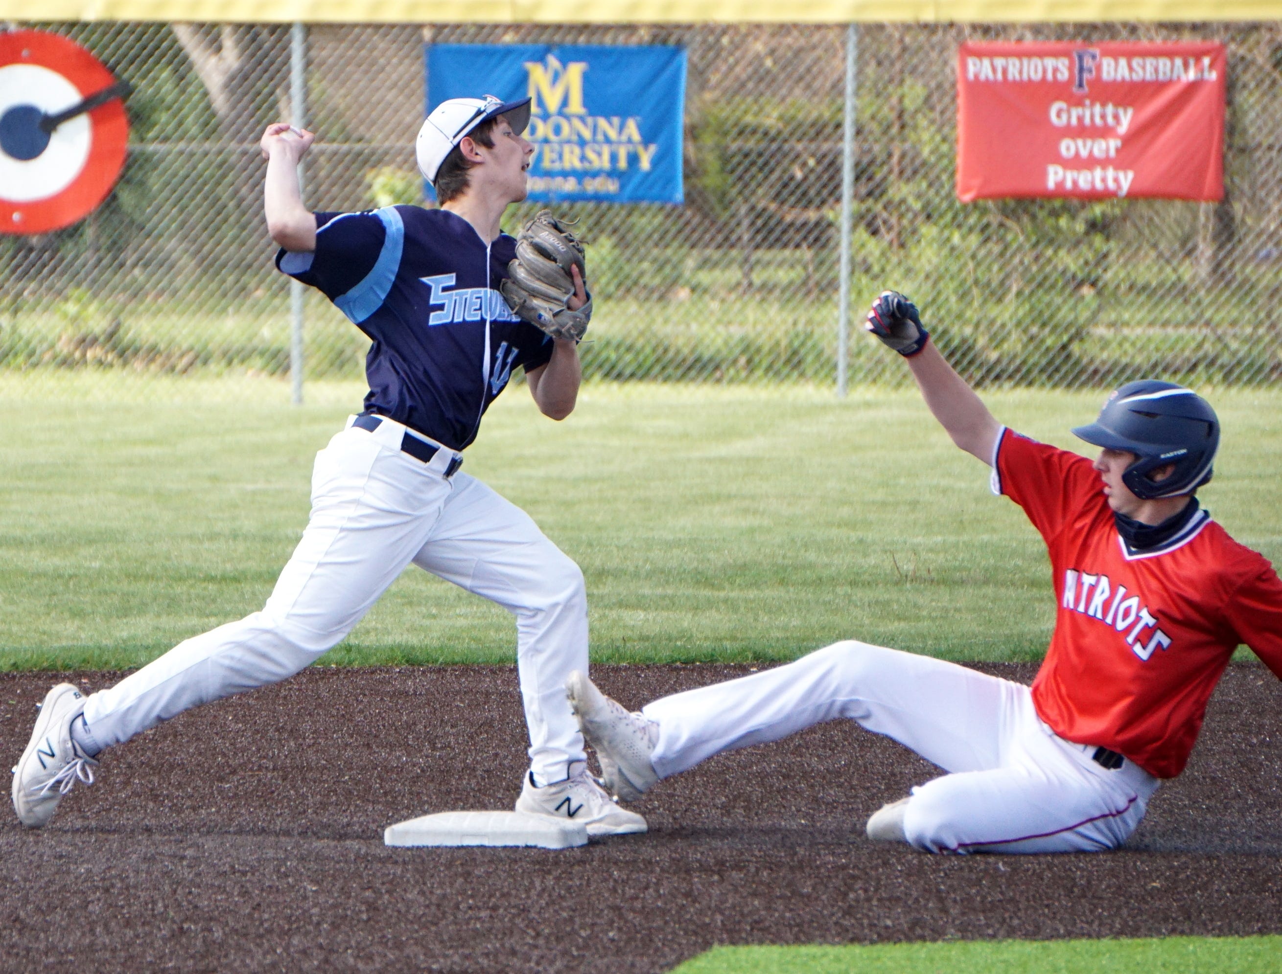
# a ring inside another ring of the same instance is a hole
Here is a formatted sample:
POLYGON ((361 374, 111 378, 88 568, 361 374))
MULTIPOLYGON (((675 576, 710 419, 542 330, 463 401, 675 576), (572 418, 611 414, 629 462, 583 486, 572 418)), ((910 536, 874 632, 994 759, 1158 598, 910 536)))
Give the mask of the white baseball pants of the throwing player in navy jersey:
MULTIPOLYGON (((587 670, 583 574, 514 504, 469 477, 401 452, 405 427, 349 427, 319 454, 312 516, 262 611, 187 640, 85 705, 103 747, 200 704, 291 677, 351 632, 414 563, 517 618, 517 669, 531 770, 563 780, 585 760, 565 679, 587 670)), ((432 719, 424 714, 424 719, 432 719)))

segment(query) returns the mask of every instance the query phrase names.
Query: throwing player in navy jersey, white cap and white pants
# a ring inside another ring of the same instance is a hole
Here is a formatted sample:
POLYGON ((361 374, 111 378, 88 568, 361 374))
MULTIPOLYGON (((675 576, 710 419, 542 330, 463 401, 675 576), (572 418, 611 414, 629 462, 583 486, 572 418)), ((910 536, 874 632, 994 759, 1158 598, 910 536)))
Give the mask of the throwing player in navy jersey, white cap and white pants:
MULTIPOLYGON (((44 825, 74 782, 92 783, 104 748, 314 663, 414 564, 515 616, 529 730, 517 810, 573 818, 592 836, 645 830, 587 775, 565 700, 568 675, 587 666, 582 573, 527 514, 460 469, 514 369, 554 419, 569 415, 578 393, 576 342, 519 319, 499 290, 515 254, 499 220, 526 199, 528 119, 528 99, 441 104, 417 145, 441 208, 369 213, 308 211, 297 167, 313 135, 268 127, 264 202, 277 267, 369 336, 369 395, 317 455, 310 519, 262 611, 179 643, 109 689, 49 692, 14 769, 23 824, 44 825)), ((568 306, 582 308, 577 269, 573 283, 568 306)))

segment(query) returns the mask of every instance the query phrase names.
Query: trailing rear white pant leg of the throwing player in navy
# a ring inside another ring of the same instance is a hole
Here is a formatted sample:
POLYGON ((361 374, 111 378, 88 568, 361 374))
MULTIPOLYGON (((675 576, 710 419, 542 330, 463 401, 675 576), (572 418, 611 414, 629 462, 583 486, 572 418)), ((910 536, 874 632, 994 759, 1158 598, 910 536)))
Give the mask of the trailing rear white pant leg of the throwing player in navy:
POLYGON ((349 428, 317 454, 312 516, 262 611, 181 642, 94 693, 103 747, 201 704, 290 677, 337 645, 423 545, 450 482, 349 428))

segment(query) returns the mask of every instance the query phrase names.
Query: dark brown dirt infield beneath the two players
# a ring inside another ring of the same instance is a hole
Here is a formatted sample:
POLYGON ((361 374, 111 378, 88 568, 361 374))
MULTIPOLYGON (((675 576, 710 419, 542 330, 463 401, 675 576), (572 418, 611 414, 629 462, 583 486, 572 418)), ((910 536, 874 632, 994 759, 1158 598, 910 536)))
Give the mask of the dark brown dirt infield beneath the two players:
MULTIPOLYGON (((635 706, 746 670, 594 675, 635 706)), ((51 682, 0 675, 6 760, 51 682)), ((312 669, 185 714, 106 755, 45 830, 0 816, 0 966, 658 971, 718 943, 1282 932, 1282 686, 1259 665, 1229 668, 1188 772, 1108 855, 867 842, 933 770, 849 723, 664 783, 637 806, 647 836, 382 845, 400 819, 510 807, 523 748, 510 668, 312 669)))

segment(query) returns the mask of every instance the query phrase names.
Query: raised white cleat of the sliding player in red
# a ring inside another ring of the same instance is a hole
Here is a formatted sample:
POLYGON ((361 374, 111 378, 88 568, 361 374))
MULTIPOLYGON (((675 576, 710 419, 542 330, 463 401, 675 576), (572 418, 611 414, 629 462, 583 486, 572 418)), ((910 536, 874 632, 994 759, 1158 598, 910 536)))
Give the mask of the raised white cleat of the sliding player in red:
POLYGON ((659 783, 650 755, 658 724, 633 714, 576 670, 565 681, 570 710, 583 737, 601 759, 601 783, 620 801, 636 801, 659 783))

